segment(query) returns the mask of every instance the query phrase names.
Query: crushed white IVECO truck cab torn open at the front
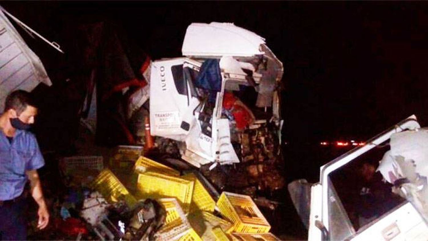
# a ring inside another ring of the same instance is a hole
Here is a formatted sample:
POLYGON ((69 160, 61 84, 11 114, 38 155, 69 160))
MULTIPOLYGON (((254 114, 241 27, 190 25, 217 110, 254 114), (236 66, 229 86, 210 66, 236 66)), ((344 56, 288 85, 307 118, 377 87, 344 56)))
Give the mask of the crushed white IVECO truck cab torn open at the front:
POLYGON ((230 23, 193 23, 182 52, 186 57, 152 63, 152 135, 184 141, 181 158, 196 167, 239 162, 231 139, 240 139, 239 131, 255 121, 274 123, 280 136, 283 67, 265 39, 230 23), (254 98, 245 94, 251 91, 254 98), (235 95, 250 101, 226 108, 227 101, 238 100, 235 95))

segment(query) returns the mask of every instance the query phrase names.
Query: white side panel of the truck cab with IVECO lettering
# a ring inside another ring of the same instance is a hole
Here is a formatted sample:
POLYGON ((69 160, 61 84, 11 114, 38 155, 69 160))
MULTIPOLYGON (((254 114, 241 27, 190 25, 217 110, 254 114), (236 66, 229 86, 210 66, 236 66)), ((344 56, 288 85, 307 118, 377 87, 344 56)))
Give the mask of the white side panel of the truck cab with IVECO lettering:
MULTIPOLYGON (((192 95, 189 77, 183 76, 185 68, 198 72, 201 62, 189 58, 175 58, 152 62, 150 71, 150 133, 154 136, 183 141, 189 129, 181 122, 186 122, 186 113, 190 103, 199 104, 192 95)), ((195 73, 193 73, 195 74, 195 73)), ((193 89, 193 88, 192 88, 193 89)), ((189 110, 190 111, 190 110, 189 110)), ((190 116, 187 117, 187 119, 190 116)))

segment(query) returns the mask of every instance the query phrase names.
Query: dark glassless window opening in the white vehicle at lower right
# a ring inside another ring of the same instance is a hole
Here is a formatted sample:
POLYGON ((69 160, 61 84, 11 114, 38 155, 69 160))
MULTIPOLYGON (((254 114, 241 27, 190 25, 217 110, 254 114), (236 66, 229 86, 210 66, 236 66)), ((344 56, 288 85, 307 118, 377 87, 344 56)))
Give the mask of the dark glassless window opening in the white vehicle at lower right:
POLYGON ((392 193, 392 184, 377 171, 388 150, 388 143, 383 143, 330 174, 331 184, 356 231, 405 201, 392 193))

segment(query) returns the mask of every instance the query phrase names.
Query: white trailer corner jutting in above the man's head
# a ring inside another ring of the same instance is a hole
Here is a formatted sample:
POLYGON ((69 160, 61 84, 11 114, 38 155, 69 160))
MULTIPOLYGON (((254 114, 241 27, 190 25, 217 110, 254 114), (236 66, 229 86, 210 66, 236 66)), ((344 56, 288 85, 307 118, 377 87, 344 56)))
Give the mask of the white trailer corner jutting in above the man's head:
POLYGON ((0 110, 9 92, 16 89, 30 92, 40 82, 52 85, 39 57, 0 10, 0 110))

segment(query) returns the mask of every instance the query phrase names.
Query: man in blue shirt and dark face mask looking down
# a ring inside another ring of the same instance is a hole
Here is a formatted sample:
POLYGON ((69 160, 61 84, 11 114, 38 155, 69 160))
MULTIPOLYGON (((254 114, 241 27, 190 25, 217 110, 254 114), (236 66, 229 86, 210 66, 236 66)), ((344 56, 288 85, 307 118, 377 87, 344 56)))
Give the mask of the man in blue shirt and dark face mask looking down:
POLYGON ((43 198, 37 169, 45 165, 36 137, 28 131, 37 108, 30 93, 11 92, 0 116, 0 239, 27 239, 24 186, 30 180, 30 192, 39 205, 38 228, 48 225, 49 213, 43 198))

